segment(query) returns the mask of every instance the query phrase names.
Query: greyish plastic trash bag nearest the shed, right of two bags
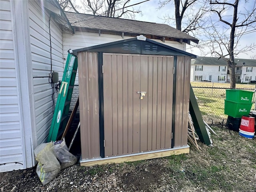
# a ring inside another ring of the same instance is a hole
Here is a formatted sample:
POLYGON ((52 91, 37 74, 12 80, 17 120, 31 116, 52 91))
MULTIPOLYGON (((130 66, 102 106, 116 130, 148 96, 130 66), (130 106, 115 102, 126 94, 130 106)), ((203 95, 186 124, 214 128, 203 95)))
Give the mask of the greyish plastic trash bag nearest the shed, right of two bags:
POLYGON ((61 169, 65 169, 76 163, 77 158, 68 151, 64 138, 63 141, 56 142, 53 148, 58 160, 61 162, 61 169))

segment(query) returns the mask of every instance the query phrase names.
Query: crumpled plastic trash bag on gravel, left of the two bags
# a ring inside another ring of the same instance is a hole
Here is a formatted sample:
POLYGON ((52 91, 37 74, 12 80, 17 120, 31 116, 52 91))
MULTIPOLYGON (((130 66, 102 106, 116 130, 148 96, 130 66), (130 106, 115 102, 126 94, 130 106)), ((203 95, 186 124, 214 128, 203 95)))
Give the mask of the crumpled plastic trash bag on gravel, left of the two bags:
POLYGON ((53 146, 54 142, 43 143, 34 150, 38 161, 36 173, 43 185, 53 180, 60 172, 60 163, 56 158, 53 146))

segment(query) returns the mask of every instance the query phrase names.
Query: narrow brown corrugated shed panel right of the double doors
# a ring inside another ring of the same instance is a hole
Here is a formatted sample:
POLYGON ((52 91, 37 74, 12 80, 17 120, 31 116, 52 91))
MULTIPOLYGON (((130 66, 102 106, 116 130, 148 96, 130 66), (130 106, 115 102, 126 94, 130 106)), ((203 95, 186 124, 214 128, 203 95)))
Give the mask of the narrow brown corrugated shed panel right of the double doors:
POLYGON ((190 57, 177 56, 174 147, 187 146, 188 142, 190 63, 190 57))

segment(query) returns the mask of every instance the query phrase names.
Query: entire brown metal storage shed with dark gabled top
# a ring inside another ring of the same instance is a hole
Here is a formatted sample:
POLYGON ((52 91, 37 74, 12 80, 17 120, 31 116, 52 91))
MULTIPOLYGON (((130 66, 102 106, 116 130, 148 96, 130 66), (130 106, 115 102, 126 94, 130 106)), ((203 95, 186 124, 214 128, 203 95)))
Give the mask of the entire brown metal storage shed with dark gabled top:
POLYGON ((196 55, 144 36, 73 52, 82 166, 189 152, 190 64, 196 55))

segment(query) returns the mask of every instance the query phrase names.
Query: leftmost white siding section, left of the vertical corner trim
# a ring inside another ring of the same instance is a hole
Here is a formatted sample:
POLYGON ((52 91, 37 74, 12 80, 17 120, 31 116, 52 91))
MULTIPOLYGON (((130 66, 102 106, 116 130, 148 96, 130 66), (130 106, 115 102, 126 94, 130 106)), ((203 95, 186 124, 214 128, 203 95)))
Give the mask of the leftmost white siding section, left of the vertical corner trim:
POLYGON ((0 0, 0 23, 0 172, 4 172, 24 168, 10 1, 0 0))

